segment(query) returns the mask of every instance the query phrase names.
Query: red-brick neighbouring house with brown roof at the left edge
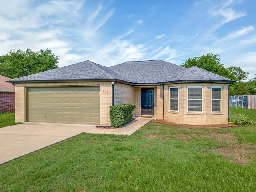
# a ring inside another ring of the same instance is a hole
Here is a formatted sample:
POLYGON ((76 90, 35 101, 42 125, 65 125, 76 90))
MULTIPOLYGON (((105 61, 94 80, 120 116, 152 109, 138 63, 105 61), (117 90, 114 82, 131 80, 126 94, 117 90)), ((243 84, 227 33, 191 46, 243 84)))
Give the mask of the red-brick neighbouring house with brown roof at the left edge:
POLYGON ((15 86, 6 82, 8 80, 11 79, 0 75, 0 113, 15 110, 15 86))

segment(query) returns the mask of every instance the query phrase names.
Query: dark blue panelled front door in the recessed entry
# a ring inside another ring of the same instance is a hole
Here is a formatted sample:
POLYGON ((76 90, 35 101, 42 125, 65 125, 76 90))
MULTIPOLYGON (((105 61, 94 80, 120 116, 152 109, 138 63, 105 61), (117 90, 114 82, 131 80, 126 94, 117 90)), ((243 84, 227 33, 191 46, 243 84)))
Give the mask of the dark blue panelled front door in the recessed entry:
POLYGON ((154 89, 141 89, 141 115, 154 115, 154 89))

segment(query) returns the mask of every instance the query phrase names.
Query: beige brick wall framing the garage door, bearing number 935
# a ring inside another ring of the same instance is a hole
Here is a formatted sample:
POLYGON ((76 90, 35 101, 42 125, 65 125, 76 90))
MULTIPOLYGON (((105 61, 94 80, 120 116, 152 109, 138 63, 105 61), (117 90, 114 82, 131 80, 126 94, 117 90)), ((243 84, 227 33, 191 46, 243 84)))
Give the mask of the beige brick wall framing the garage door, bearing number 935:
POLYGON ((111 82, 16 83, 15 122, 26 122, 26 87, 29 86, 100 86, 100 125, 110 125, 109 106, 112 105, 111 82), (104 91, 104 92, 103 92, 104 91))

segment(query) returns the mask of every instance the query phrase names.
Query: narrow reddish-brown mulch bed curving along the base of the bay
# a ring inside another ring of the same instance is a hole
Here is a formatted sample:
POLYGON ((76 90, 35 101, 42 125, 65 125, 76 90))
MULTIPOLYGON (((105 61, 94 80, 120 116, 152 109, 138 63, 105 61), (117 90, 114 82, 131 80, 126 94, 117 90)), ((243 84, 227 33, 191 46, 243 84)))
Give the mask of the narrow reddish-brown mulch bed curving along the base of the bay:
POLYGON ((160 119, 152 119, 150 122, 153 123, 161 123, 165 125, 175 126, 175 127, 195 127, 195 128, 228 128, 228 127, 239 127, 234 124, 216 124, 216 125, 187 125, 187 124, 176 124, 167 121, 163 121, 160 119))

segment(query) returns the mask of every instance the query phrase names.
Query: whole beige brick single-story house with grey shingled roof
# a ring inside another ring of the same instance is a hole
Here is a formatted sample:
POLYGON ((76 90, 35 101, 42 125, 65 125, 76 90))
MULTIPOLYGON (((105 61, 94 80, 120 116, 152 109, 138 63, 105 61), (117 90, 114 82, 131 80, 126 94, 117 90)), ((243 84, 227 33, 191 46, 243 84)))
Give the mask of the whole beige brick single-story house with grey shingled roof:
POLYGON ((234 81, 163 60, 111 67, 87 60, 8 82, 15 83, 16 122, 110 125, 111 105, 135 103, 134 116, 205 125, 228 122, 234 81))

